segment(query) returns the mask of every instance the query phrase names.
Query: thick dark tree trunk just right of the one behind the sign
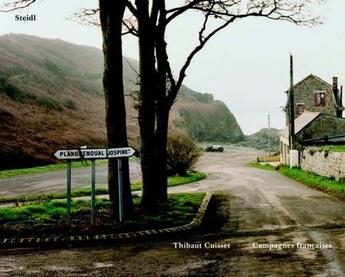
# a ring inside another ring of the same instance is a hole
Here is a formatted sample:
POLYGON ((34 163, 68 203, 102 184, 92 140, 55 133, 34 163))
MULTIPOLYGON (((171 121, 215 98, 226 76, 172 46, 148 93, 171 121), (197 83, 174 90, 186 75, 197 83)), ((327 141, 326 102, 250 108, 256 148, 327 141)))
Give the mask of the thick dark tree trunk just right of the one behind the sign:
MULTIPOLYGON (((147 0, 136 1, 138 10, 140 93, 139 126, 141 135, 142 198, 145 211, 151 211, 167 200, 166 134, 167 122, 158 114, 162 89, 156 70, 154 22, 150 20, 147 0), (162 155, 163 154, 163 155, 162 155)), ((163 92, 165 95, 165 90, 163 92)))

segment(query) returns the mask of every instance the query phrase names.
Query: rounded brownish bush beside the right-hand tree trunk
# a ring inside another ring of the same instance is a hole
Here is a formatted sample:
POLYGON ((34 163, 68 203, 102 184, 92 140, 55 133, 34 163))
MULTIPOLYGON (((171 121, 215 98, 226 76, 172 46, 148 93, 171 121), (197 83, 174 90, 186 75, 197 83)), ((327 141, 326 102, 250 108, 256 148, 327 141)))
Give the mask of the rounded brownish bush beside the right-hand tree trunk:
POLYGON ((184 176, 187 170, 199 160, 202 151, 192 138, 184 133, 173 133, 168 136, 167 162, 168 174, 184 176))

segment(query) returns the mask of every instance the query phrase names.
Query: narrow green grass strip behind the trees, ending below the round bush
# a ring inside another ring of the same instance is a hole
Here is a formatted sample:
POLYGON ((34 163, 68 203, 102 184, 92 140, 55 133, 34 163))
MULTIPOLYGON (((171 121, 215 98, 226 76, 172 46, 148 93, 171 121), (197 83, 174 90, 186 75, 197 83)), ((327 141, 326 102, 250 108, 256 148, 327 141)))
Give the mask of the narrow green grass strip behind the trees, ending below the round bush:
MULTIPOLYGON (((168 178, 168 187, 180 186, 191 182, 196 182, 206 178, 206 174, 198 171, 189 171, 186 176, 171 176, 168 178)), ((131 184, 132 191, 141 190, 141 182, 131 184)), ((90 187, 82 187, 72 190, 72 197, 90 196, 90 187)), ((106 185, 97 185, 96 194, 108 194, 106 185)), ((0 204, 13 203, 13 202, 32 202, 32 201, 46 201, 51 199, 64 199, 66 193, 49 193, 49 194, 30 194, 14 197, 0 197, 0 204)))

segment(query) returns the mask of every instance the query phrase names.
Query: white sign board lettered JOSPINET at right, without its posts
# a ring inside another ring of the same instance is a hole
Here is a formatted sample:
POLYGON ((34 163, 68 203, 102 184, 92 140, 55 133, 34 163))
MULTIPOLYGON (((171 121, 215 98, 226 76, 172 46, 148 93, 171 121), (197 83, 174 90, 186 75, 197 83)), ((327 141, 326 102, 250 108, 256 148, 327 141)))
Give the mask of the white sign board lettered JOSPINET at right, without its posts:
POLYGON ((132 147, 103 148, 103 149, 73 149, 58 150, 54 156, 59 160, 80 160, 80 159, 108 159, 133 156, 135 150, 132 147))

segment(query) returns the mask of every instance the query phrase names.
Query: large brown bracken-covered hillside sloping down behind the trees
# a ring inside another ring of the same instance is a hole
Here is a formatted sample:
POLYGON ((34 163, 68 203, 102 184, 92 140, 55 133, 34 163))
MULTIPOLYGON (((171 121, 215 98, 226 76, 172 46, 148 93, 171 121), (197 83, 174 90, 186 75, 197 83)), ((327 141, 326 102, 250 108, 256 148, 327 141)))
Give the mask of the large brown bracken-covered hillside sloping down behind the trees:
MULTIPOLYGON (((124 61, 128 136, 138 137, 133 108, 137 62, 124 61)), ((104 146, 103 56, 99 49, 27 35, 0 37, 1 168, 54 162, 57 148, 104 146)), ((187 87, 171 114, 171 128, 199 140, 236 142, 236 119, 211 94, 187 87)))

